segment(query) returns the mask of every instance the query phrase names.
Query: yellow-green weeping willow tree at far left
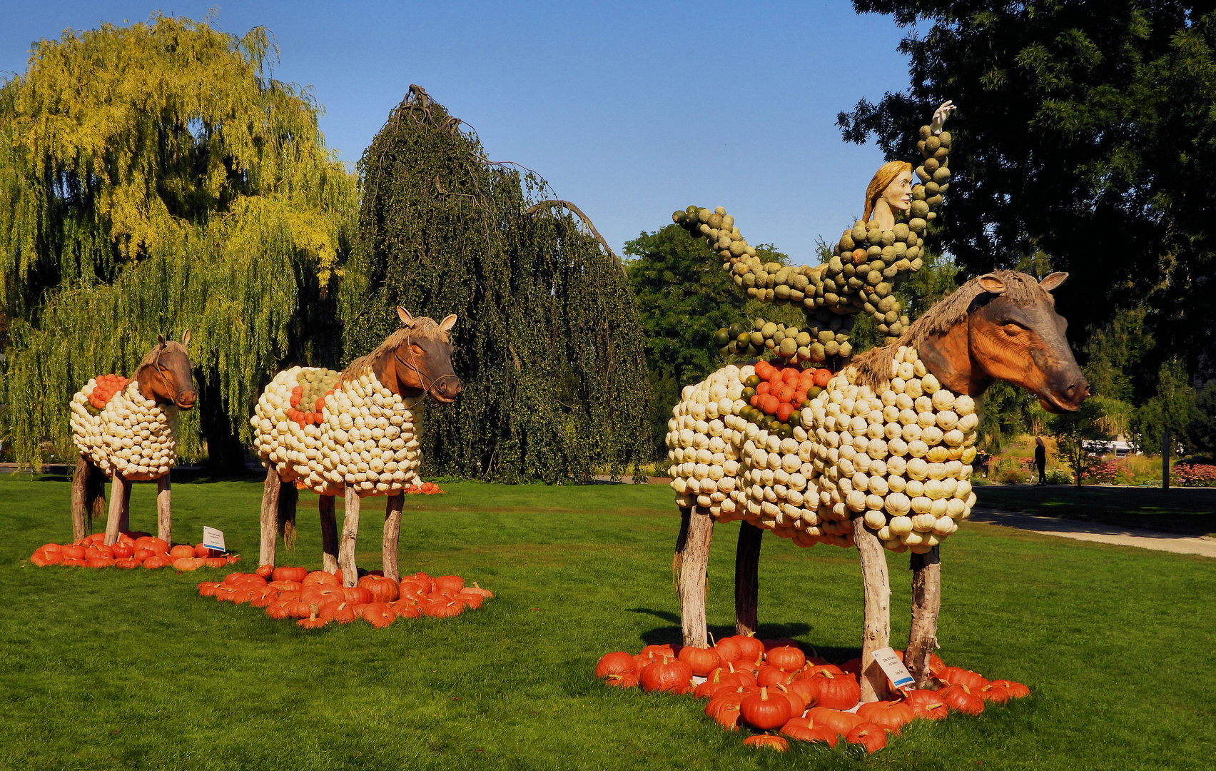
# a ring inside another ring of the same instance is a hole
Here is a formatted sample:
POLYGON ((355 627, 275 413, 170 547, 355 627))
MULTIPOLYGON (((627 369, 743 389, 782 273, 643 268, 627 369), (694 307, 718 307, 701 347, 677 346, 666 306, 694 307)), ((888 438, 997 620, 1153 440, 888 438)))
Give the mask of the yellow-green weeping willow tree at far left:
MULTIPOLYGON (((243 463, 249 405, 283 361, 336 364, 355 175, 311 96, 268 77, 268 33, 154 15, 34 45, 0 86, 0 398, 21 460, 72 452, 68 400, 192 330, 182 446, 243 463)), ((224 461, 227 461, 225 463, 224 461)))

